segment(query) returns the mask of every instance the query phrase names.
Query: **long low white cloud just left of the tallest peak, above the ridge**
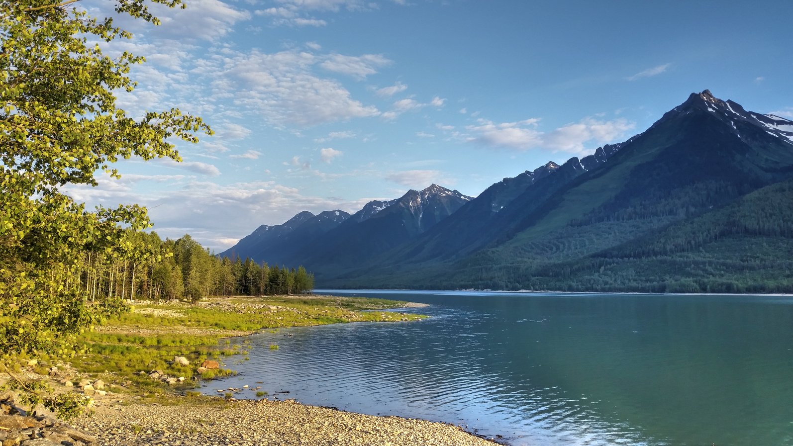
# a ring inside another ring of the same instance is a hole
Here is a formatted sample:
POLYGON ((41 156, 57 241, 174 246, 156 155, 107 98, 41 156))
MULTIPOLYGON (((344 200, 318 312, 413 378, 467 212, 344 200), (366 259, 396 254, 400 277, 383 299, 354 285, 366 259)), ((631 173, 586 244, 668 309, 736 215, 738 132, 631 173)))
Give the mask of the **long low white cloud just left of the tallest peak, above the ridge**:
POLYGON ((634 124, 623 118, 605 121, 587 117, 580 122, 556 128, 552 132, 538 130, 537 119, 500 124, 479 120, 477 125, 465 128, 468 133, 458 136, 468 142, 488 147, 518 151, 544 148, 585 154, 585 151, 591 148, 586 147, 586 144, 609 143, 633 128, 634 124))

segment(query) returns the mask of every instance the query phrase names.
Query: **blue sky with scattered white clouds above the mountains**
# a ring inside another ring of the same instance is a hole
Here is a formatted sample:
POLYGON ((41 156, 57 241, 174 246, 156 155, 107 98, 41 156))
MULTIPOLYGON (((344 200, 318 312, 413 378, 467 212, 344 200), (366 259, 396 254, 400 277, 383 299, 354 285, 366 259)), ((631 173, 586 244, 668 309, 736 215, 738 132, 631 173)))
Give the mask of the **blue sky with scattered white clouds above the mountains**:
MULTIPOLYGON (((432 183, 504 177, 644 131, 705 89, 793 119, 793 2, 185 0, 103 48, 132 69, 129 116, 178 107, 215 135, 183 161, 117 163, 72 186, 137 203, 161 237, 215 252, 297 212, 355 212, 432 183)), ((81 0, 98 17, 113 2, 81 0)))

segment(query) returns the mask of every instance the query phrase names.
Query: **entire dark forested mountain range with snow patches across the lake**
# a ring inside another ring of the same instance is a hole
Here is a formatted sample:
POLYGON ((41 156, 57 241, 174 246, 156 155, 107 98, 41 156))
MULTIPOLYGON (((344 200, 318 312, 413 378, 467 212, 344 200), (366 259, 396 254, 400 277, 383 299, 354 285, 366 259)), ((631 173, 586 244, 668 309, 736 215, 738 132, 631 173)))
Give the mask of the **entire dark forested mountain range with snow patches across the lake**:
MULTIPOLYGON (((793 292, 790 181, 793 121, 704 90, 623 143, 473 199, 431 185, 372 202, 280 255, 340 288, 793 292)), ((240 248, 266 245, 260 230, 240 248)))

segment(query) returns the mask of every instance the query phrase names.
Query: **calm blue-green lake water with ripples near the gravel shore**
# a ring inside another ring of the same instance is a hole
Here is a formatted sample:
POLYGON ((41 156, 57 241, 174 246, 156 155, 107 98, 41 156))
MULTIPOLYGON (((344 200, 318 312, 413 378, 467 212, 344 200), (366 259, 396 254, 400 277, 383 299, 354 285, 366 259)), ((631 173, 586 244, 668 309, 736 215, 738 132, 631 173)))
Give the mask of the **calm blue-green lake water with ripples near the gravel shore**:
POLYGON ((432 318, 256 334, 250 360, 227 358, 240 375, 203 391, 262 386, 515 446, 793 445, 793 297, 316 292, 432 318))

